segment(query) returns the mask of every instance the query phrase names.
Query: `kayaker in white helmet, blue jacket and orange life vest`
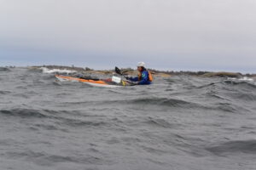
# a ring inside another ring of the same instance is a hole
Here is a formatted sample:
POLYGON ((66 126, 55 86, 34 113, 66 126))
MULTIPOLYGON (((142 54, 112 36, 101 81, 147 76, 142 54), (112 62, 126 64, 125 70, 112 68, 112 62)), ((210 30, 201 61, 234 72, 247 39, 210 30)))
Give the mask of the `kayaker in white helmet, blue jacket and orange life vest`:
POLYGON ((144 62, 137 63, 137 77, 126 77, 127 80, 134 82, 136 85, 150 84, 153 80, 150 71, 145 68, 144 62))

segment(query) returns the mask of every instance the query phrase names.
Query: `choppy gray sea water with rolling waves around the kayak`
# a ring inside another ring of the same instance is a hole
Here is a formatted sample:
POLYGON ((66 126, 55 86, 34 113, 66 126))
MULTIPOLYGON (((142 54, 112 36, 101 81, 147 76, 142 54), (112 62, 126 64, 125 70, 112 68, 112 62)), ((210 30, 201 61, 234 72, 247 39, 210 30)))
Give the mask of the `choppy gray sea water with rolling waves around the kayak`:
POLYGON ((253 79, 96 88, 56 71, 0 68, 0 169, 256 169, 253 79))

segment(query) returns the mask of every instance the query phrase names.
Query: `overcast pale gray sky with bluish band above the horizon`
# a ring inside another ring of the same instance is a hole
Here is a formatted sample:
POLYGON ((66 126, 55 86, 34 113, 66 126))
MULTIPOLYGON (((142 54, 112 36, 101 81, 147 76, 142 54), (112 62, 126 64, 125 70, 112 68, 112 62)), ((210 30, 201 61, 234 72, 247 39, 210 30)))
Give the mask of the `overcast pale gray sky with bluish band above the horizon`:
POLYGON ((255 0, 0 0, 0 65, 256 72, 255 0))

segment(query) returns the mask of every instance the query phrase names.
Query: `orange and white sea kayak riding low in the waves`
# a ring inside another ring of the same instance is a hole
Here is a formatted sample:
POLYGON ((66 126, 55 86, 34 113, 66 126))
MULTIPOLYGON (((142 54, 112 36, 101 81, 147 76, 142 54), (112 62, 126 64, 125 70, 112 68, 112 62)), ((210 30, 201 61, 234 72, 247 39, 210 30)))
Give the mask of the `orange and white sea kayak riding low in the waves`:
POLYGON ((131 86, 131 83, 121 80, 119 77, 112 77, 108 79, 93 79, 86 77, 67 77, 61 75, 55 75, 59 81, 72 81, 72 82, 84 82, 90 86, 104 87, 104 88, 118 88, 123 86, 131 86))

